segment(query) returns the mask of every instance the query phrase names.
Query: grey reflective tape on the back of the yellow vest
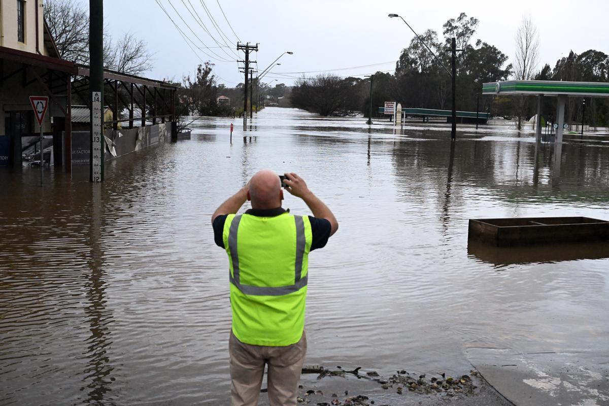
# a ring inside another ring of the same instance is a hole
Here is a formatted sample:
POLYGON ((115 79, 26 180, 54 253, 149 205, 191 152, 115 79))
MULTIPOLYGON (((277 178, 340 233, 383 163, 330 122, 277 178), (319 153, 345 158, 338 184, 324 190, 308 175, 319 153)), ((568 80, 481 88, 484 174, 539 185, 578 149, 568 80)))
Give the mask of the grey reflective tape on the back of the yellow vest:
POLYGON ((302 217, 294 216, 296 223, 296 261, 294 264, 294 284, 287 286, 253 286, 241 284, 239 279, 239 253, 237 251, 237 233, 239 230, 239 222, 241 222, 241 214, 234 216, 228 230, 228 248, 230 248, 231 262, 233 262, 233 275, 228 270, 228 279, 237 289, 241 290, 245 295, 253 296, 281 296, 289 293, 297 292, 307 285, 309 275, 301 278, 303 267, 303 255, 305 254, 306 239, 305 239, 305 223, 302 217))

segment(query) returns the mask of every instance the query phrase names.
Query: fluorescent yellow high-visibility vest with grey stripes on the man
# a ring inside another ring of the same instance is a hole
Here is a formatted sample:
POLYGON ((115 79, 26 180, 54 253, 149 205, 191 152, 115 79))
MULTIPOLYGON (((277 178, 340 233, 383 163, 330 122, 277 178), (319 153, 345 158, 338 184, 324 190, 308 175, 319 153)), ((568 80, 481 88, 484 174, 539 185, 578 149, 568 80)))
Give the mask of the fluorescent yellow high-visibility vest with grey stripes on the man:
POLYGON ((305 329, 309 217, 229 214, 222 239, 235 337, 251 345, 297 343, 305 329))

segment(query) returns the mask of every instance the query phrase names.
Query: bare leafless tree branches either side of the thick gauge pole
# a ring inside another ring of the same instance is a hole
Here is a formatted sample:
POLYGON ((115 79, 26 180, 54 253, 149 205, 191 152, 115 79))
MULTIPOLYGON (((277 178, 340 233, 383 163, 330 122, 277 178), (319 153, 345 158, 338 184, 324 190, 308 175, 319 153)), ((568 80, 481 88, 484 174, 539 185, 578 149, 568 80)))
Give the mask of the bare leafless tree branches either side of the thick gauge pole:
MULTIPOLYGON (((44 18, 55 40, 59 56, 74 63, 89 63, 88 10, 74 0, 45 0, 44 18)), ((152 68, 146 43, 125 33, 113 43, 104 29, 104 68, 139 75, 152 68)))

